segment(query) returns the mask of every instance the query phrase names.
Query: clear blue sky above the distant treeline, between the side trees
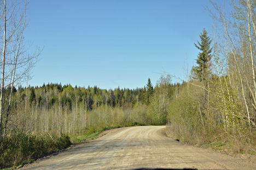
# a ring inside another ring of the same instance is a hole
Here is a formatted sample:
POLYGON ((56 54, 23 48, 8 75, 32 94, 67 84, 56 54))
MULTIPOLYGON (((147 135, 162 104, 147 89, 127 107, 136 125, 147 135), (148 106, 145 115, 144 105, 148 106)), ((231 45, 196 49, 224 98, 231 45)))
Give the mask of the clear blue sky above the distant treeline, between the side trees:
POLYGON ((25 42, 44 49, 28 84, 134 89, 148 78, 155 85, 163 71, 185 79, 200 32, 212 32, 207 6, 207 0, 30 1, 25 42))

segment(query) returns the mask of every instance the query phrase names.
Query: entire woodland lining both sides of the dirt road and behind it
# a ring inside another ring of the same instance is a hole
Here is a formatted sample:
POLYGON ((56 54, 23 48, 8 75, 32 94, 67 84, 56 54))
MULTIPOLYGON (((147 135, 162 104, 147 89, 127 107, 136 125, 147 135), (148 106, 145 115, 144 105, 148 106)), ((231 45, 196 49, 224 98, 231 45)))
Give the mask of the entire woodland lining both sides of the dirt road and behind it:
POLYGON ((17 86, 40 55, 22 57, 21 15, 1 42, 0 167, 34 161, 98 131, 137 125, 166 125, 167 136, 189 144, 256 154, 256 2, 232 1, 229 13, 212 7, 213 28, 203 28, 194 43, 199 53, 186 79, 163 73, 155 86, 149 78, 137 89, 17 86))

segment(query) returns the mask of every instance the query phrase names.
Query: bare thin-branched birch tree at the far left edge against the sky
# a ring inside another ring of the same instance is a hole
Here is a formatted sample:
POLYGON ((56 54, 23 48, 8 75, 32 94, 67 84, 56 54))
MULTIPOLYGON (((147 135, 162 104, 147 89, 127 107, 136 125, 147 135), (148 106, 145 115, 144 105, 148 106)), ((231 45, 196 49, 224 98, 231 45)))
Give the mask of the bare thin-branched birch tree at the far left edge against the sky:
POLYGON ((0 50, 2 52, 0 86, 0 142, 5 134, 14 86, 21 83, 34 67, 40 50, 28 52, 24 43, 26 0, 0 2, 0 50), (5 119, 3 125, 3 118, 5 119))

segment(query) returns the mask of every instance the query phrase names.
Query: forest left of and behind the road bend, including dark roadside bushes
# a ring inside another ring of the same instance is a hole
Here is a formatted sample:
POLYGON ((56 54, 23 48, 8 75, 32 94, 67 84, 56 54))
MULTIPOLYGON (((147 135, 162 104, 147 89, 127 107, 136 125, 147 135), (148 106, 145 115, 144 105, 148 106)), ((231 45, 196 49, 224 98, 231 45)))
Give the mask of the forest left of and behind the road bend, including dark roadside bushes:
POLYGON ((53 83, 14 88, 11 114, 3 117, 2 166, 36 160, 100 130, 165 125, 168 98, 180 84, 170 84, 170 76, 160 80, 132 90, 53 83))

